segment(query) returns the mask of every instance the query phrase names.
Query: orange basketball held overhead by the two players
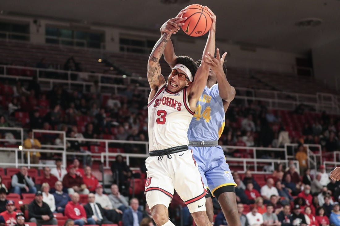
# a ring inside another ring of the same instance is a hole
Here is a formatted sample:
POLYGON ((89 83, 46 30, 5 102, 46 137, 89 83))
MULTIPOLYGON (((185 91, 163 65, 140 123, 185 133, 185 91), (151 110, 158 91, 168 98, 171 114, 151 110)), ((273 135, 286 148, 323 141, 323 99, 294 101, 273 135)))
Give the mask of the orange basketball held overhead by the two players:
POLYGON ((207 33, 211 27, 210 13, 200 4, 189 5, 182 17, 187 19, 182 25, 183 31, 193 37, 199 37, 207 33))

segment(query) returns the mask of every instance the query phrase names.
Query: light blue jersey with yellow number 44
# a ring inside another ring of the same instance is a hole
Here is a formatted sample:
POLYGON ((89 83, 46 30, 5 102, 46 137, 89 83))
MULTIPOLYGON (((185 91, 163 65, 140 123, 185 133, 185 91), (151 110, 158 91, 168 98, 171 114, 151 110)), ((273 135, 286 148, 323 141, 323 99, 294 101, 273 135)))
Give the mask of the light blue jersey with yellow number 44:
POLYGON ((218 85, 214 84, 210 89, 205 87, 191 119, 188 130, 189 140, 218 140, 223 132, 224 123, 225 113, 218 85))

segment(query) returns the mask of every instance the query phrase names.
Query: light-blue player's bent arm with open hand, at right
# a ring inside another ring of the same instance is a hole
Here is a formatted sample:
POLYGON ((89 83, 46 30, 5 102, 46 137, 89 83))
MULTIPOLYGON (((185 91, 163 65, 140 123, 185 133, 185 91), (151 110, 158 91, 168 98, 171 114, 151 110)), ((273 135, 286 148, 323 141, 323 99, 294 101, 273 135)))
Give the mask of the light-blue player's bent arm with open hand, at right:
MULTIPOLYGON (((229 84, 226 75, 224 74, 223 63, 226 55, 227 53, 224 53, 222 57, 220 57, 220 50, 217 49, 216 58, 211 54, 208 54, 209 57, 206 59, 206 63, 209 64, 211 70, 216 74, 219 94, 222 100, 226 102, 223 103, 223 106, 229 106, 228 103, 235 98, 236 93, 235 88, 229 84)), ((227 109, 224 108, 224 110, 226 111, 227 109)))

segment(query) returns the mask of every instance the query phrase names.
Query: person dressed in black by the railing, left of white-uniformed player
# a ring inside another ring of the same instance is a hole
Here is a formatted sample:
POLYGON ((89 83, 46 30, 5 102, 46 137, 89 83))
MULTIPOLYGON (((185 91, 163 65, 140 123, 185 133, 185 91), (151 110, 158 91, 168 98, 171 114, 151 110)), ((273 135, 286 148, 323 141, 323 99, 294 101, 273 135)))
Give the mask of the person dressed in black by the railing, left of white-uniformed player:
POLYGON ((111 171, 113 176, 118 178, 119 190, 126 190, 126 188, 129 187, 128 178, 130 178, 132 174, 129 166, 123 161, 123 156, 116 156, 116 161, 111 164, 111 171))

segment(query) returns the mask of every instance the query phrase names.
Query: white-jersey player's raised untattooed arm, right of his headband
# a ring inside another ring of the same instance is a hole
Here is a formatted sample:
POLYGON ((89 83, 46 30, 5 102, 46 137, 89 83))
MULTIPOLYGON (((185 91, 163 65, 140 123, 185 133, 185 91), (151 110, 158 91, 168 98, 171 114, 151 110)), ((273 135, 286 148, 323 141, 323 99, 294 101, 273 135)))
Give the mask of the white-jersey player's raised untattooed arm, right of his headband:
POLYGON ((204 87, 207 84, 210 66, 205 61, 209 57, 207 54, 211 54, 208 50, 212 51, 212 55, 214 55, 215 52, 216 16, 208 7, 207 9, 211 14, 210 17, 212 19, 212 24, 209 30, 207 42, 203 50, 202 63, 195 74, 194 81, 192 82, 191 86, 188 87, 188 100, 191 109, 196 108, 196 103, 201 97, 204 87))

